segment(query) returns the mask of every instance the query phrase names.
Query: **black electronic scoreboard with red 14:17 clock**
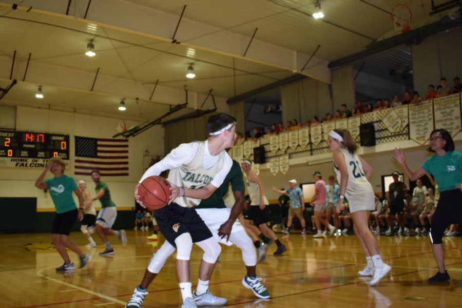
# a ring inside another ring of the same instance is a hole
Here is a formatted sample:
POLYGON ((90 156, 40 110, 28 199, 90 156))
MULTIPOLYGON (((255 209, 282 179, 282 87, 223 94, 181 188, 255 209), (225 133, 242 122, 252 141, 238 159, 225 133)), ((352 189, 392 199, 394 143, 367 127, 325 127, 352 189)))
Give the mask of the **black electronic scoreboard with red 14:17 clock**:
POLYGON ((0 157, 69 159, 69 135, 0 130, 0 157))

